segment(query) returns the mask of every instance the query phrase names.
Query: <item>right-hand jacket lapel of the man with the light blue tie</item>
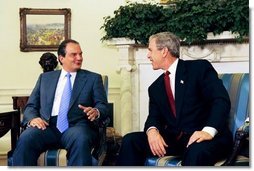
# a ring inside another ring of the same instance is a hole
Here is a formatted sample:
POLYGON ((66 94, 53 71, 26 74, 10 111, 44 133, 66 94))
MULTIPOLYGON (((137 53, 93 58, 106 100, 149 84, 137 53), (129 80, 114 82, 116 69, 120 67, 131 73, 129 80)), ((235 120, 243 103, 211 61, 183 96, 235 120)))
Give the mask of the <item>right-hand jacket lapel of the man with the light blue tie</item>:
POLYGON ((72 96, 71 96, 69 108, 72 107, 75 100, 78 98, 80 91, 83 89, 83 87, 86 84, 86 81, 87 81, 87 75, 84 74, 84 72, 78 71, 75 78, 74 85, 73 85, 73 89, 72 89, 72 96))

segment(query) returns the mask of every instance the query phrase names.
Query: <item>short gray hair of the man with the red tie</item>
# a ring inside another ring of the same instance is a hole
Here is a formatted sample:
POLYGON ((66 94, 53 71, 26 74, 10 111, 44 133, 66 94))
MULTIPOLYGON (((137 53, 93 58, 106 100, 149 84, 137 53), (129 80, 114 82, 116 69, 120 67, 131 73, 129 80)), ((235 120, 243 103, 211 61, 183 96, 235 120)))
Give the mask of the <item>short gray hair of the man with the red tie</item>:
POLYGON ((180 56, 180 39, 171 32, 161 32, 153 34, 149 37, 149 42, 155 39, 155 43, 158 50, 166 47, 169 52, 179 58, 180 56))

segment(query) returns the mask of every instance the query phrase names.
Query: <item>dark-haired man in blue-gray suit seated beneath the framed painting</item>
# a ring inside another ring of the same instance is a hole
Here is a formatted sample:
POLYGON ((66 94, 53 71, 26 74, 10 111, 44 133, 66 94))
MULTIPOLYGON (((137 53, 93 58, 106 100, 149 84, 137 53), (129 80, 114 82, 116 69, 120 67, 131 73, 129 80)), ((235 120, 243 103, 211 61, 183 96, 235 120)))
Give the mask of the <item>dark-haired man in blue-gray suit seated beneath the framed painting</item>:
POLYGON ((98 141, 93 121, 107 117, 107 97, 101 75, 81 69, 82 50, 75 40, 65 40, 58 48, 62 70, 40 75, 24 111, 22 132, 13 154, 15 166, 37 165, 39 155, 50 148, 67 150, 68 165, 92 165, 91 150, 98 141), (72 93, 67 113, 68 128, 59 131, 57 118, 70 74, 72 93))

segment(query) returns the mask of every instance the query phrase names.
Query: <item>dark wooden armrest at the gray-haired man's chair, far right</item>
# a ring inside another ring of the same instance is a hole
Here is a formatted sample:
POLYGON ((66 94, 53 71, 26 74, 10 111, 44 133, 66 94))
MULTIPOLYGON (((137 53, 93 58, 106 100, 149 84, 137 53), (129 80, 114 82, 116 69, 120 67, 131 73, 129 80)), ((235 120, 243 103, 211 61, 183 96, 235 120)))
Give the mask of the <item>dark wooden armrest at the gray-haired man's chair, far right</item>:
POLYGON ((249 120, 246 120, 244 124, 237 129, 235 133, 233 152, 227 158, 227 160, 222 164, 222 166, 232 166, 235 164, 236 157, 242 148, 244 140, 249 138, 249 127, 250 127, 250 122, 249 120))

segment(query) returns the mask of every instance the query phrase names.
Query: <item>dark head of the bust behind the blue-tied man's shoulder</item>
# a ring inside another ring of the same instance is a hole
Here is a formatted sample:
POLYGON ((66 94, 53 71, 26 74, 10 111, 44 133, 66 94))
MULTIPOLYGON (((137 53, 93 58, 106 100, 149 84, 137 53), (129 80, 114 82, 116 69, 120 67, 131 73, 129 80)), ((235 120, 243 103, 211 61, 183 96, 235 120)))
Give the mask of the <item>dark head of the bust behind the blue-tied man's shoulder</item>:
POLYGON ((58 64, 57 57, 50 52, 43 53, 40 57, 39 64, 43 68, 43 72, 53 71, 58 64))

